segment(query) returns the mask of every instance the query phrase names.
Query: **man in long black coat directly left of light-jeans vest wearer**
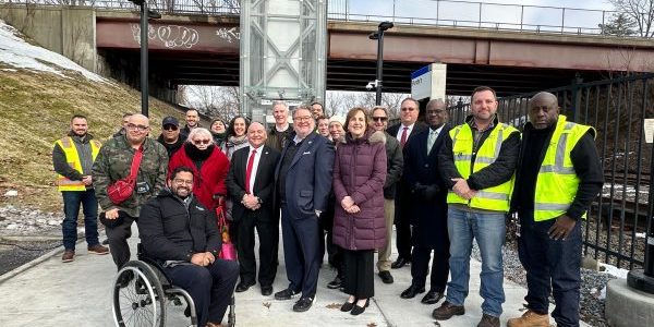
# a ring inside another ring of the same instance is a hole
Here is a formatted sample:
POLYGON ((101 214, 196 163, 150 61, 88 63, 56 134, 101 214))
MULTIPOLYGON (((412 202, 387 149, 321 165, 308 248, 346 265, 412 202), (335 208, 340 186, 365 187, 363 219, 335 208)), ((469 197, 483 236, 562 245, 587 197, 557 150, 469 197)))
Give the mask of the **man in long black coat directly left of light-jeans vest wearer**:
POLYGON ((413 280, 401 298, 412 299, 425 291, 429 256, 434 251, 429 292, 422 303, 436 304, 443 298, 449 272, 448 187, 438 172, 438 153, 450 126, 443 99, 431 100, 425 113, 429 129, 417 133, 404 146, 403 177, 412 194, 409 207, 413 225, 413 280))

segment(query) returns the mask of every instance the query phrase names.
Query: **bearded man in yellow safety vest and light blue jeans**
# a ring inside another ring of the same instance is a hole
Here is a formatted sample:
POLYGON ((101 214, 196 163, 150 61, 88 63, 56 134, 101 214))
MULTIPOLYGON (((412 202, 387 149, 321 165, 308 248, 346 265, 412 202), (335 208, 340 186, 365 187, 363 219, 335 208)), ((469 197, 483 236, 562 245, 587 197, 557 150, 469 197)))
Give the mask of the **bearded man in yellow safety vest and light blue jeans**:
POLYGON ((499 327, 504 294, 501 245, 505 215, 513 189, 520 132, 497 119, 495 90, 480 86, 472 93, 471 116, 449 131, 440 148, 438 168, 450 191, 447 230, 450 239, 450 282, 446 301, 433 312, 445 320, 463 315, 470 279, 470 252, 476 239, 482 254, 480 294, 483 316, 477 327, 499 327))

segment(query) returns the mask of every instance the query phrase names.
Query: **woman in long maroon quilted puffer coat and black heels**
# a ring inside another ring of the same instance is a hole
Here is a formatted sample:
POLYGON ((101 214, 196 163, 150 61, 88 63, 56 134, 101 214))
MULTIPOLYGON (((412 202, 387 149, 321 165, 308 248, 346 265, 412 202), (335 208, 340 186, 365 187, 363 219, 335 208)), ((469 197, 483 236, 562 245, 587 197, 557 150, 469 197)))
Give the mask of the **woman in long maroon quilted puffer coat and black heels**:
POLYGON ((350 294, 341 311, 359 315, 375 293, 375 249, 386 242, 386 137, 371 129, 363 108, 348 112, 344 129, 334 162, 334 243, 343 249, 343 286, 350 294))

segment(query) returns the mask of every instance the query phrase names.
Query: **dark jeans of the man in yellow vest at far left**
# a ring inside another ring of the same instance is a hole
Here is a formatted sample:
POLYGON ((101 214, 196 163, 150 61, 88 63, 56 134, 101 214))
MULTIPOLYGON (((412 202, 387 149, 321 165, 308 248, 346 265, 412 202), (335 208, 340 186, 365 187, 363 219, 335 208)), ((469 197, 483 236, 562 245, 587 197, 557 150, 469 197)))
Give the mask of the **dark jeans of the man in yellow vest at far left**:
POLYGON ((77 242, 77 215, 80 205, 84 211, 84 234, 88 246, 99 244, 98 241, 98 201, 93 189, 84 192, 63 191, 63 222, 61 229, 63 232, 63 247, 65 250, 75 250, 77 242))

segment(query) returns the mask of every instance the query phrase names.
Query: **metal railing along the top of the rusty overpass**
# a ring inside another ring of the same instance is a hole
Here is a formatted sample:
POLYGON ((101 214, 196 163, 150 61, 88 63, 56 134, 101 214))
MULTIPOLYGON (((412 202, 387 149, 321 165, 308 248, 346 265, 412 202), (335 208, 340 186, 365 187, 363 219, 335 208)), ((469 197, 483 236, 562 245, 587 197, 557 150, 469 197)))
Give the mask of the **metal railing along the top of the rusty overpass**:
MULTIPOLYGON (((0 0, 1 3, 134 10, 128 0, 0 0)), ((148 0, 166 14, 239 14, 238 0, 148 0)), ((614 11, 457 0, 328 0, 332 21, 469 27, 558 34, 602 34, 614 11)))

